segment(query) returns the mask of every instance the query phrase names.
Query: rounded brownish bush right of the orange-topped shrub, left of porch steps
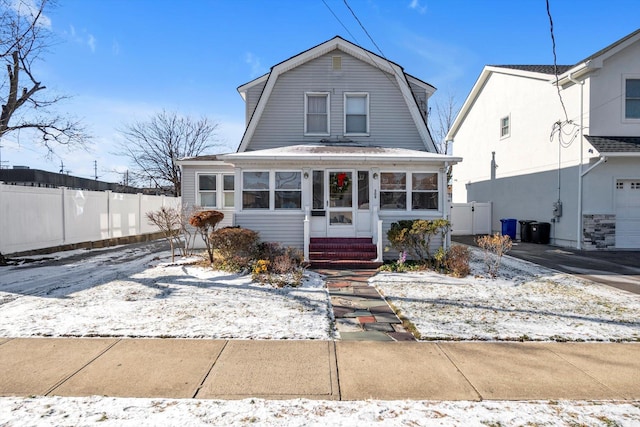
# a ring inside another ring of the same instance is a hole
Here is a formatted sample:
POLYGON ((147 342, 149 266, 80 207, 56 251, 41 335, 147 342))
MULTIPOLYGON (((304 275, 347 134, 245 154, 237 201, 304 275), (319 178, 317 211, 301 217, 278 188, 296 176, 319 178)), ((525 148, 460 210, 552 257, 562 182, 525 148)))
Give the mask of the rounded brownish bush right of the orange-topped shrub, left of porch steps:
POLYGON ((241 227, 225 227, 212 232, 209 240, 216 250, 213 263, 217 268, 239 271, 249 268, 256 259, 256 231, 241 227))

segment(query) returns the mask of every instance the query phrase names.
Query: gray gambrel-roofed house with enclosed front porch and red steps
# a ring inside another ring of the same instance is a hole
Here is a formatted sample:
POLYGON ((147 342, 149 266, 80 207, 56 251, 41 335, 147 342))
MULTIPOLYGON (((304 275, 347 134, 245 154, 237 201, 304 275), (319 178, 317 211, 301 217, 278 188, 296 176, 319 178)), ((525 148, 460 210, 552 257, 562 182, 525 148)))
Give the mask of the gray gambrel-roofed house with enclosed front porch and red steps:
POLYGON ((380 262, 392 222, 447 217, 444 170, 461 159, 427 129, 435 88, 399 65, 335 37, 238 91, 237 152, 183 159, 184 204, 312 260, 380 262))

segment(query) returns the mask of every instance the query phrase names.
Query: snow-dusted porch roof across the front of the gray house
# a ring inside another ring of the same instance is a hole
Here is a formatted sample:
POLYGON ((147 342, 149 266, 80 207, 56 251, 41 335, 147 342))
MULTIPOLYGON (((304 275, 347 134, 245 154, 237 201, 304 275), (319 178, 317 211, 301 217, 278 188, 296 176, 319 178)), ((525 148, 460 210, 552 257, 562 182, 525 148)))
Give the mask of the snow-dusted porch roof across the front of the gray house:
POLYGON ((368 164, 368 165, 454 165, 461 157, 436 154, 405 148, 364 145, 301 144, 288 147, 224 154, 220 159, 234 165, 242 164, 297 164, 301 166, 368 164))

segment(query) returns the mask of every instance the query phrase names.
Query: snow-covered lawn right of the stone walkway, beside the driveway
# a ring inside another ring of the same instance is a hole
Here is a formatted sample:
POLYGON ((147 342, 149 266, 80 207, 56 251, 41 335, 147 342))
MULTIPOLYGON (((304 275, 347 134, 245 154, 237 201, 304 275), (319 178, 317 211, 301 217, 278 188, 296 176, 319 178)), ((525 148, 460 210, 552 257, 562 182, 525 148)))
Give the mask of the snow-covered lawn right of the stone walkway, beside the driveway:
POLYGON ((640 340, 640 296, 508 256, 491 279, 471 251, 466 278, 380 273, 370 283, 425 340, 640 340))

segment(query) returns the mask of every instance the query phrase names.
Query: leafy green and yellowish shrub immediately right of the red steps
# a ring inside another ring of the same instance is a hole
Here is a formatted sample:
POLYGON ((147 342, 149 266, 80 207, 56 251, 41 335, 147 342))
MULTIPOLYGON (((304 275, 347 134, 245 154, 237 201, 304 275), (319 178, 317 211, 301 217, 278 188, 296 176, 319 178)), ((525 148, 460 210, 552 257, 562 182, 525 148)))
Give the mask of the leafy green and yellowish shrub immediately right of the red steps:
POLYGON ((391 224, 387 238, 398 252, 408 252, 419 262, 431 262, 431 239, 440 233, 444 238, 451 223, 446 219, 401 220, 391 224))

